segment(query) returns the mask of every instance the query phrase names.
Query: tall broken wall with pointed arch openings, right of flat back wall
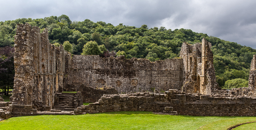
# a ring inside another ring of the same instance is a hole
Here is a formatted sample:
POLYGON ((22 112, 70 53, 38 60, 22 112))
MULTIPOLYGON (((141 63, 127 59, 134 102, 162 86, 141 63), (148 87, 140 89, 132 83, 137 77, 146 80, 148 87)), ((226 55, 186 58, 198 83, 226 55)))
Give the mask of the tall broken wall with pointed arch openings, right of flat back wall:
POLYGON ((183 43, 180 57, 183 59, 186 93, 211 94, 218 87, 213 66, 211 43, 202 39, 201 43, 189 45, 183 43))

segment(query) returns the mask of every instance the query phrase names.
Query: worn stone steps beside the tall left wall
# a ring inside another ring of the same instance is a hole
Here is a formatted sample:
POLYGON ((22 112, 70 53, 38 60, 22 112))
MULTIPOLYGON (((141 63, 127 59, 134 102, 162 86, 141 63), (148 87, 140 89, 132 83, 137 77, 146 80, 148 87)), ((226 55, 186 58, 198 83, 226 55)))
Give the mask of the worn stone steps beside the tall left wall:
POLYGON ((54 102, 54 110, 74 111, 75 93, 57 93, 54 102))

